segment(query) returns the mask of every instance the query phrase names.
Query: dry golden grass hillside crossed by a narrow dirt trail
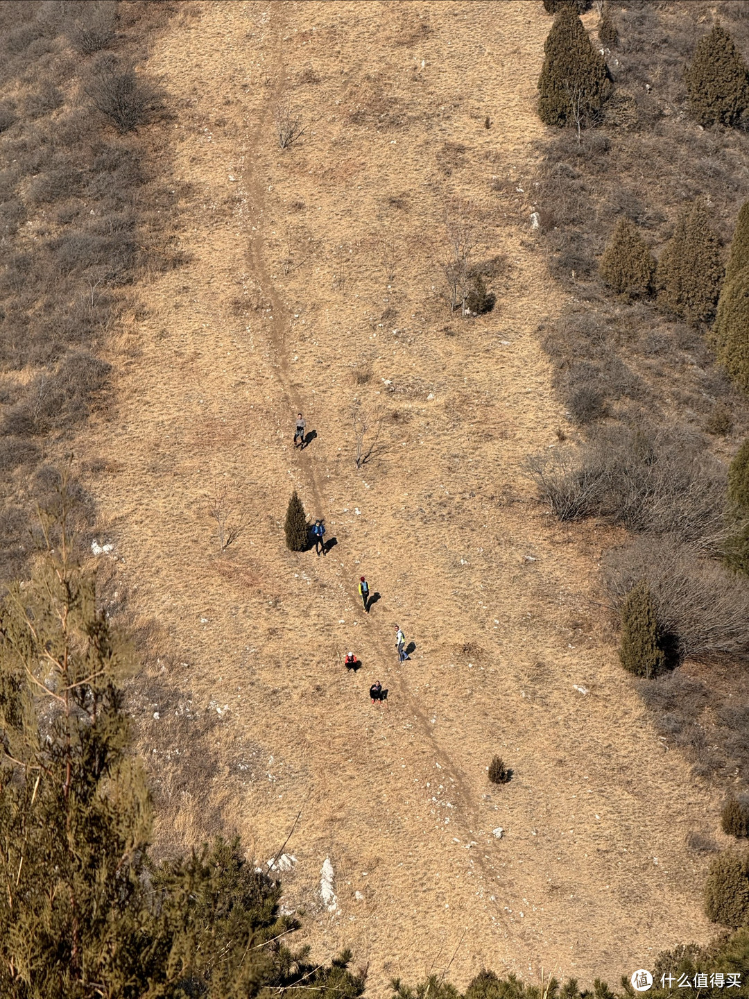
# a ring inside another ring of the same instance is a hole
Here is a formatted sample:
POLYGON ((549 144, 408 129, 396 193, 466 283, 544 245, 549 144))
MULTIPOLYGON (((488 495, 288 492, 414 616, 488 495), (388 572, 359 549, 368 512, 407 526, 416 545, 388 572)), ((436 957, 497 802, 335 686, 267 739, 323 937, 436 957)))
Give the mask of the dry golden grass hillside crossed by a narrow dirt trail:
POLYGON ((287 904, 376 996, 450 960, 458 986, 615 982, 710 935, 685 840, 720 838, 716 801, 618 667, 615 535, 552 520, 523 473, 569 432, 536 334, 566 293, 529 226, 549 23, 535 0, 186 3, 149 60, 190 262, 141 286, 81 458, 107 599, 154 650, 134 696, 162 848, 236 830, 265 863, 302 809, 287 904), (277 108, 306 127, 284 150, 277 108), (445 214, 493 261, 485 316, 444 302, 445 214), (380 428, 361 470, 357 404, 380 428), (223 554, 217 483, 249 521, 223 554), (295 488, 325 558, 285 547, 295 488))

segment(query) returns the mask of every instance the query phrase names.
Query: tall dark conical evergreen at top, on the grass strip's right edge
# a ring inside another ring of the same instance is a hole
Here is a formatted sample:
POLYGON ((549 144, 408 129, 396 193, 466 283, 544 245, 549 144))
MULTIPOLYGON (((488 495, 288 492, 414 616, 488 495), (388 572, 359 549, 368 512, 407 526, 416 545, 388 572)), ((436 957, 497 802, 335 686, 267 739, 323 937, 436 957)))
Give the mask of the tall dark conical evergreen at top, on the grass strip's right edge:
POLYGON ((565 5, 556 15, 544 52, 538 79, 541 121, 558 127, 589 124, 608 96, 608 71, 570 7, 565 5))

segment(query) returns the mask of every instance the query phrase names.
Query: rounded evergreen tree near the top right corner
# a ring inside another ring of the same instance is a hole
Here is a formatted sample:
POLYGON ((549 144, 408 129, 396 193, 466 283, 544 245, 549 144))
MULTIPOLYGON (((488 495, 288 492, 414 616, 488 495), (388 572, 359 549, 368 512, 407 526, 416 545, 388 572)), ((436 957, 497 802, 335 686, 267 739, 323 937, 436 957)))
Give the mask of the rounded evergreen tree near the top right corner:
POLYGON ((704 125, 736 125, 749 107, 747 66, 719 24, 697 43, 684 74, 692 117, 704 125))

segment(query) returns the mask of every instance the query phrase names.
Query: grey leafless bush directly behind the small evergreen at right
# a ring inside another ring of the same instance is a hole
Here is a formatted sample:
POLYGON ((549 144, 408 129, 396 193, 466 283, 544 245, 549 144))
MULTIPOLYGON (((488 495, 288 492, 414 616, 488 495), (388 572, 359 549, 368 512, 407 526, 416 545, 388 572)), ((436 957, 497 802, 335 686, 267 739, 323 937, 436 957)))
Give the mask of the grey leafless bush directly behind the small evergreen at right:
POLYGON ((640 537, 609 551, 603 576, 617 610, 647 579, 658 624, 680 657, 749 652, 749 583, 677 538, 640 537))

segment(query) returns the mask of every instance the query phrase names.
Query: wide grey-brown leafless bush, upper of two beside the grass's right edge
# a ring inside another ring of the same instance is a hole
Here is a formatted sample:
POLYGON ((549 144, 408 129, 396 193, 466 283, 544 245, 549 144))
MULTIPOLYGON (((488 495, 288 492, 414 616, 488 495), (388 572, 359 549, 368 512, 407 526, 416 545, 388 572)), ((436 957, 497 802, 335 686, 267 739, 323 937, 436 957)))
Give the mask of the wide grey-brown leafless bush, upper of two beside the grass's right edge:
POLYGON ((531 459, 528 471, 561 520, 600 516, 705 551, 726 535, 725 468, 686 436, 611 430, 577 450, 531 459))

